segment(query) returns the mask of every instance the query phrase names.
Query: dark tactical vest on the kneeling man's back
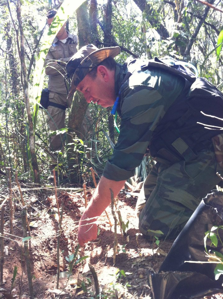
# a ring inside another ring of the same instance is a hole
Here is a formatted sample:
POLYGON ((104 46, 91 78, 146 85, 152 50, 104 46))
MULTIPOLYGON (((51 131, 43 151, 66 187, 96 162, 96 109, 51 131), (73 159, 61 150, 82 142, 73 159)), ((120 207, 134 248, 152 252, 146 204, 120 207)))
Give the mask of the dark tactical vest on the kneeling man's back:
POLYGON ((153 132, 149 153, 172 163, 196 159, 197 152, 210 147, 211 138, 223 132, 223 93, 205 78, 195 78, 180 65, 166 65, 155 58, 148 62, 147 68, 161 68, 185 81, 181 94, 153 132))

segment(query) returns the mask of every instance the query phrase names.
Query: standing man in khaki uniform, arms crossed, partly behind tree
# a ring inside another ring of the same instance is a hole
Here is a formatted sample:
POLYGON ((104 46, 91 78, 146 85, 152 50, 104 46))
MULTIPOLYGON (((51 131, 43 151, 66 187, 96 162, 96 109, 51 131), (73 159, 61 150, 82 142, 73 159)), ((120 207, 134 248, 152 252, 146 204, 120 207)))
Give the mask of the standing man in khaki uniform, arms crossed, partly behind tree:
MULTIPOLYGON (((47 24, 51 25, 57 11, 50 10, 47 13, 47 24)), ((67 100, 67 88, 64 82, 66 74, 65 66, 71 57, 77 52, 77 35, 66 31, 66 23, 58 31, 49 52, 46 56, 44 67, 48 75, 49 106, 48 106, 48 124, 50 131, 65 128, 65 110, 72 104, 72 98, 67 100)), ((69 84, 67 84, 69 86, 69 84)), ((87 110, 82 123, 83 140, 87 132, 91 129, 92 118, 87 110)), ((49 138, 49 148, 51 152, 51 162, 49 169, 52 171, 58 163, 58 153, 63 152, 65 145, 65 134, 55 134, 49 138)), ((53 175, 48 178, 53 180, 53 175)))

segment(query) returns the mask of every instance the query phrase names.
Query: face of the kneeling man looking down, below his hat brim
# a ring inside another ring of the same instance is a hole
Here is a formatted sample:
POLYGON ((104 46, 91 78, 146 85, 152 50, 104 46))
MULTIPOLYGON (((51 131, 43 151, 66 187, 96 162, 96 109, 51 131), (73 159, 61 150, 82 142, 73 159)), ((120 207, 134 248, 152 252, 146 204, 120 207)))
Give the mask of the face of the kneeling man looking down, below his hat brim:
POLYGON ((115 91, 112 82, 106 82, 103 77, 97 74, 96 78, 86 75, 77 85, 77 90, 83 93, 88 103, 93 102, 102 107, 114 105, 115 91))

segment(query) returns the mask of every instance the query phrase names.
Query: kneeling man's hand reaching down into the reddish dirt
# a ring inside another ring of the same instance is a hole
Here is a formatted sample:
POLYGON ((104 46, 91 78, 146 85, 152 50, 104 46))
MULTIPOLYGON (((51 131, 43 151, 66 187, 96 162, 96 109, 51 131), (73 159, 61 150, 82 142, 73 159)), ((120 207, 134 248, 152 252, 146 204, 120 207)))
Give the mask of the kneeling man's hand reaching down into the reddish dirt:
POLYGON ((81 246, 88 241, 97 239, 98 228, 96 223, 93 223, 95 220, 96 219, 86 220, 84 214, 81 217, 78 227, 78 242, 81 246))

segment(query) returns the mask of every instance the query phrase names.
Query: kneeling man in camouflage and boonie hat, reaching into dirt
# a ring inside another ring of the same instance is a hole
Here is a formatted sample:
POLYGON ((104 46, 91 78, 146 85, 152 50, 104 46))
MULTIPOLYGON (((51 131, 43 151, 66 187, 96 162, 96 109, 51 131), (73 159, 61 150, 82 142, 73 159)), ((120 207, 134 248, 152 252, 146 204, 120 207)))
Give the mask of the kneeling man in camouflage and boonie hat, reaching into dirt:
POLYGON ((210 101, 215 93, 222 106, 221 92, 207 80, 159 59, 116 63, 114 57, 119 53, 119 47, 87 45, 66 67, 68 73, 74 73, 69 96, 77 89, 88 103, 113 106, 121 118, 114 152, 79 222, 80 245, 97 238, 94 221, 111 203, 109 188, 116 197, 148 149, 157 163, 143 184, 136 207, 139 229, 145 236, 150 235, 149 230, 177 236, 202 197, 221 180, 211 141, 221 131, 197 124, 212 121, 219 125, 217 119, 200 111, 223 118, 223 108, 210 101))

